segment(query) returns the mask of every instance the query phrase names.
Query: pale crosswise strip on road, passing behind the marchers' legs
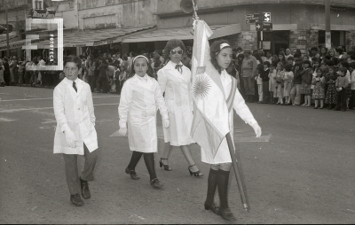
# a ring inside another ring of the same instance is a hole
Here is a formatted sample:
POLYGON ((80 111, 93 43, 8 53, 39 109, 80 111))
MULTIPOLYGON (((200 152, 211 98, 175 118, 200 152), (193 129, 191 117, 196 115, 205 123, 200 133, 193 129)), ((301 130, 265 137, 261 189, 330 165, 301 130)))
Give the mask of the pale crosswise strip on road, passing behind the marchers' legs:
MULTIPOLYGON (((164 139, 164 133, 162 131, 162 127, 156 128, 157 135, 159 139, 164 139)), ((256 137, 253 132, 248 130, 241 130, 238 128, 234 128, 234 134, 238 133, 237 136, 234 136, 233 140, 235 143, 262 143, 262 142, 269 142, 272 134, 266 136, 256 137)), ((114 134, 110 135, 110 137, 120 136, 118 130, 114 132, 114 134)), ((121 136, 126 137, 126 136, 121 136)))

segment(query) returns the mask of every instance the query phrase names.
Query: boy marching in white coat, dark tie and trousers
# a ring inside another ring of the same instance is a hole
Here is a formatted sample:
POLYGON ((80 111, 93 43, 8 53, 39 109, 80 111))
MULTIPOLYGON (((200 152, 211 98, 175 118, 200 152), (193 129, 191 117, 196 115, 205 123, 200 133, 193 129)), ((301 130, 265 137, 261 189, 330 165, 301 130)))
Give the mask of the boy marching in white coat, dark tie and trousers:
POLYGON ((64 78, 53 92, 53 109, 57 120, 54 136, 54 153, 62 153, 65 161, 70 201, 83 206, 84 199, 91 198, 89 181, 98 159, 98 136, 95 130, 95 114, 89 84, 78 79, 82 62, 76 56, 65 58, 64 78), (85 159, 82 175, 78 175, 77 155, 85 159))

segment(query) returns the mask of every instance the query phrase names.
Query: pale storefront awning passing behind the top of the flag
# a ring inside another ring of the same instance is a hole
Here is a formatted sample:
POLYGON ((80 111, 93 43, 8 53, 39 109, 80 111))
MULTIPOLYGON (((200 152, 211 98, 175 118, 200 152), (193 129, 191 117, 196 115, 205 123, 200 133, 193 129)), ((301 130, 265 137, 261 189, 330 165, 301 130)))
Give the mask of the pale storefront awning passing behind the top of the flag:
MULTIPOLYGON (((213 35, 211 35, 209 39, 215 39, 217 37, 241 33, 241 24, 213 25, 209 27, 213 31, 213 35)), ((169 41, 170 39, 193 39, 193 27, 157 29, 153 32, 145 33, 142 35, 134 35, 125 38, 122 43, 147 43, 169 41)))

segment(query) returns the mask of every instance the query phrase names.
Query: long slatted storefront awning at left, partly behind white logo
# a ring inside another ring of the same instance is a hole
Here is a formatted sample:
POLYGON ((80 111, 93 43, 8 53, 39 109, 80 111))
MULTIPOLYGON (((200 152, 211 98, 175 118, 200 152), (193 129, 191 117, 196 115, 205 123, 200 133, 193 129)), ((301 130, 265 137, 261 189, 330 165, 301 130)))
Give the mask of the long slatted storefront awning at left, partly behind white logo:
MULTIPOLYGON (((64 35, 63 47, 64 48, 86 47, 86 46, 100 46, 108 43, 121 43, 123 38, 130 37, 130 35, 137 35, 137 34, 139 35, 154 29, 156 29, 155 26, 86 30, 82 32, 73 33, 70 35, 64 35)), ((54 43, 56 43, 56 41, 54 41, 54 43)), ((50 49, 49 40, 36 43, 36 45, 37 45, 37 49, 50 49)), ((22 49, 26 49, 26 45, 22 46, 22 49)))

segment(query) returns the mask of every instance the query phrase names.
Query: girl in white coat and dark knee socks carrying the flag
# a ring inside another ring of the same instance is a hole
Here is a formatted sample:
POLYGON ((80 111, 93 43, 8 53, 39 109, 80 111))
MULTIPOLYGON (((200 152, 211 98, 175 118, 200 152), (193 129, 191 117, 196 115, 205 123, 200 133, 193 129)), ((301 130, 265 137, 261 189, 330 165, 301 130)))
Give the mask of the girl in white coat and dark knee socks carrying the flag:
MULTIPOLYGON (((225 90, 225 97, 229 97, 230 93, 233 93, 233 77, 225 71, 232 60, 232 54, 232 47, 225 40, 217 41, 210 47, 211 63, 220 74, 220 79, 225 90)), ((235 90, 235 95, 233 97, 233 108, 242 120, 254 128, 256 137, 261 136, 261 128, 254 119, 253 114, 249 111, 248 106, 245 104, 238 89, 235 90)), ((233 110, 229 112, 229 127, 233 136, 233 110)), ((202 162, 206 162, 211 165, 209 170, 205 209, 210 209, 213 213, 219 214, 227 221, 235 221, 236 218, 228 206, 228 182, 232 167, 232 159, 226 139, 224 139, 220 144, 214 158, 211 157, 209 150, 201 148, 201 160, 202 162), (217 187, 220 202, 219 207, 214 202, 217 187)))

